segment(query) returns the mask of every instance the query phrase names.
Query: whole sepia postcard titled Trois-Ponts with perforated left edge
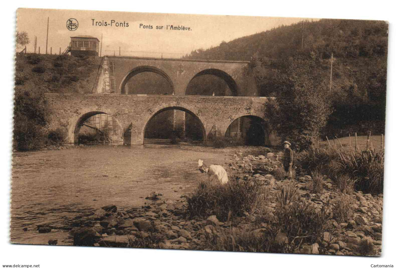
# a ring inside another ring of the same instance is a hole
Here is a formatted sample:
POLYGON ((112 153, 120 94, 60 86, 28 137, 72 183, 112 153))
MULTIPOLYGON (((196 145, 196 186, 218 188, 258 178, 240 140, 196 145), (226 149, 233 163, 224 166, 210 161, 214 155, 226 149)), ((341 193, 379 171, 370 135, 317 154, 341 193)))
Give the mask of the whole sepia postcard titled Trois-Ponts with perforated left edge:
POLYGON ((20 8, 15 43, 11 243, 381 255, 386 21, 20 8))

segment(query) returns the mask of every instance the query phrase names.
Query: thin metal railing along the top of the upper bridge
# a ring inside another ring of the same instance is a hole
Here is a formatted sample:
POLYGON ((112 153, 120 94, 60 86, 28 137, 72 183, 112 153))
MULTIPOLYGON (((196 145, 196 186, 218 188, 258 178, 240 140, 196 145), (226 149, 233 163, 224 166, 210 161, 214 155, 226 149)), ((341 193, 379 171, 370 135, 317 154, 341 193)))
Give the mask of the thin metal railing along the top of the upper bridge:
POLYGON ((200 59, 209 61, 251 61, 250 56, 199 55, 126 50, 105 50, 105 56, 148 57, 156 59, 200 59))

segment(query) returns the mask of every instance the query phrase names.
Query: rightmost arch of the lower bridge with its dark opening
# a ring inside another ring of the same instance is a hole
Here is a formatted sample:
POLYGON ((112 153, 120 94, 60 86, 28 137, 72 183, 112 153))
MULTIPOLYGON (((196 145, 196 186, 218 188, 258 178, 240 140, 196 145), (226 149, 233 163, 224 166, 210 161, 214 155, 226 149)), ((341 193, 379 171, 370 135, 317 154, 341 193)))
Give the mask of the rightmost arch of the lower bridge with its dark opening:
MULTIPOLYGON (((238 115, 234 115, 230 117, 230 123, 227 125, 226 131, 225 131, 225 136, 231 136, 231 125, 240 121, 241 119, 250 119, 249 125, 248 126, 242 126, 244 128, 244 131, 246 131, 246 139, 249 145, 270 145, 270 133, 269 133, 269 127, 267 121, 263 119, 263 117, 260 117, 258 115, 249 115, 249 114, 244 114, 240 113, 238 115), (247 129, 248 128, 248 129, 247 129), (251 133, 249 133, 251 132, 251 133)), ((236 128, 240 128, 241 126, 238 125, 235 126, 236 128)), ((240 129, 237 130, 239 132, 240 129)))

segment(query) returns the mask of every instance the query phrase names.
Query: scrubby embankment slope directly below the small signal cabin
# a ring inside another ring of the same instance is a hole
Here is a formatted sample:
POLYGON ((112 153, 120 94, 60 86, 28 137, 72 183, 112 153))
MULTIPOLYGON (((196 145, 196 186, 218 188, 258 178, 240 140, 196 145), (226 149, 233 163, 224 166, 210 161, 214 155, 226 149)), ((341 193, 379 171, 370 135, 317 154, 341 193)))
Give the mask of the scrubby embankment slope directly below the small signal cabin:
POLYGON ((36 54, 17 55, 15 61, 16 90, 43 90, 51 93, 91 93, 101 64, 100 57, 36 54), (36 58, 39 58, 38 63, 32 60, 36 58), (38 67, 44 72, 32 71, 38 67))

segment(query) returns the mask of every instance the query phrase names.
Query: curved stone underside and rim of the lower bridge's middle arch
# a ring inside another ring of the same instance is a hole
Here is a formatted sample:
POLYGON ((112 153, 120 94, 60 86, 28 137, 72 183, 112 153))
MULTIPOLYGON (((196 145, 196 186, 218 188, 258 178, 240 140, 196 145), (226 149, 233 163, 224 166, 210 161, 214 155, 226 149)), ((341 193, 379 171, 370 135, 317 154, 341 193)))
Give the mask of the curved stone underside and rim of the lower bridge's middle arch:
POLYGON ((200 122, 202 136, 204 137, 204 140, 206 140, 206 137, 207 137, 207 132, 206 132, 206 128, 205 128, 206 121, 204 118, 200 117, 200 111, 198 111, 195 107, 188 105, 188 104, 166 103, 166 104, 156 107, 155 109, 152 109, 151 113, 149 113, 148 115, 145 115, 145 117, 143 117, 143 120, 142 120, 143 127, 142 127, 142 130, 140 133, 141 141, 144 141, 145 130, 146 130, 147 124, 150 121, 150 119, 152 119, 154 116, 158 115, 159 113, 161 113, 163 111, 167 111, 167 110, 180 110, 180 111, 184 111, 186 113, 189 113, 190 115, 197 117, 200 122))

